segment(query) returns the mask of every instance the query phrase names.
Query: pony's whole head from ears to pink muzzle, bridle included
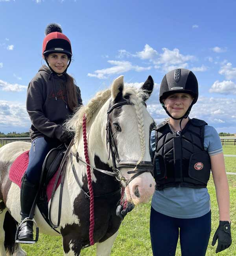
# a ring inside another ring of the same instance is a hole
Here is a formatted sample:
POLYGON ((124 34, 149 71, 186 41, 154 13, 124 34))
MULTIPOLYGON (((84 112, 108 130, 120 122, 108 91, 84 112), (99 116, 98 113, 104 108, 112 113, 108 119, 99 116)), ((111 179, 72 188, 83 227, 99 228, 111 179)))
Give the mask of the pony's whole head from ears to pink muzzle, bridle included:
POLYGON ((152 170, 149 138, 154 121, 145 104, 152 91, 151 76, 140 89, 124 89, 123 76, 116 78, 111 88, 109 109, 117 106, 109 114, 114 141, 112 148, 118 154, 116 164, 124 179, 127 200, 134 204, 148 202, 155 189, 153 176, 149 172, 152 170))

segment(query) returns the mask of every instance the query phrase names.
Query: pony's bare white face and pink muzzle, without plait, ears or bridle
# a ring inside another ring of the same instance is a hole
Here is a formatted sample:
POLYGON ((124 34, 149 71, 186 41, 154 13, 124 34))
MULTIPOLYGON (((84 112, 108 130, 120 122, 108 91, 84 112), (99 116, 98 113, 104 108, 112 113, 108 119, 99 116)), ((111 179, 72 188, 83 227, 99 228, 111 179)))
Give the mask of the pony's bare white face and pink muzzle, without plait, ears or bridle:
MULTIPOLYGON (((143 119, 144 119, 144 140, 145 140, 145 154, 142 161, 151 161, 149 154, 149 136, 150 126, 153 123, 153 119, 146 110, 146 107, 142 107, 143 119)), ((130 105, 122 107, 122 112, 118 117, 118 123, 121 128, 121 132, 117 133, 117 149, 121 161, 138 161, 142 154, 141 141, 138 131, 138 120, 135 113, 135 108, 130 105)), ((130 171, 129 169, 127 171, 130 171)), ((123 170, 122 170, 123 171, 123 170)), ((127 171, 123 171, 122 174, 126 180, 129 180, 131 175, 127 174, 127 171)), ((129 189, 126 189, 127 200, 132 201, 134 204, 147 203, 155 190, 155 182, 151 173, 142 173, 135 179, 133 179, 129 185, 129 189), (137 196, 138 195, 138 196, 137 196)))

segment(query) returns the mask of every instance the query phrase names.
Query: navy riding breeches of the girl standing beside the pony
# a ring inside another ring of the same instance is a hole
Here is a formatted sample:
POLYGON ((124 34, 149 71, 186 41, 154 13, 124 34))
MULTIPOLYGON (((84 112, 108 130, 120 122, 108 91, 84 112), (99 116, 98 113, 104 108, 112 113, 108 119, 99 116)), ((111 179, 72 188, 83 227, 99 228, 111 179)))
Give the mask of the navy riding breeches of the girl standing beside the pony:
POLYGON ((151 208, 153 256, 175 256, 180 237, 182 256, 205 256, 211 231, 211 211, 192 219, 169 217, 151 208))

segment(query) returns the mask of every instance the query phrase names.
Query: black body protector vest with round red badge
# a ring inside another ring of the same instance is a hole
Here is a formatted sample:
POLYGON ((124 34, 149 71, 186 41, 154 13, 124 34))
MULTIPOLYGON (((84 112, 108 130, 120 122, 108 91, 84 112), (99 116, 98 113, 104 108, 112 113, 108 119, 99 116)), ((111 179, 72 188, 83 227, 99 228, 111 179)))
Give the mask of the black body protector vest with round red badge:
POLYGON ((190 119, 181 132, 162 122, 156 130, 153 159, 156 189, 165 187, 206 187, 210 177, 210 156, 204 149, 207 123, 190 119))

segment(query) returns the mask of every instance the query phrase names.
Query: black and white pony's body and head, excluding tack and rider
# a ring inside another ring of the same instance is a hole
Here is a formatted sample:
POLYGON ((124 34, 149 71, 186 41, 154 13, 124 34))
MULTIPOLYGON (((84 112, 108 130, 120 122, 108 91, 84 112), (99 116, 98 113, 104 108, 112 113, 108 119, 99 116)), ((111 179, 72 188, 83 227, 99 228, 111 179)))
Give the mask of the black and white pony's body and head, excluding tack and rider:
MULTIPOLYGON (((153 80, 149 76, 141 89, 125 88, 123 76, 114 80, 111 89, 98 93, 87 106, 82 106, 66 124, 67 129, 74 130, 75 144, 71 148, 84 160, 83 135, 81 120, 87 117, 87 140, 90 164, 96 168, 113 171, 112 159, 109 158, 106 142, 107 109, 122 99, 129 100, 131 105, 115 108, 109 115, 112 139, 116 144, 120 160, 150 161, 149 137, 154 122, 144 101, 149 98, 153 90, 153 80)), ((9 180, 11 163, 22 152, 29 150, 30 143, 14 142, 0 148, 0 255, 25 256, 26 252, 14 243, 15 220, 19 223, 20 216, 20 188, 9 180), (4 224, 5 219, 5 224, 4 224), (6 229, 7 225, 7 229, 6 229), (4 246, 5 241, 5 246, 4 246)), ((77 178, 85 191, 88 191, 86 165, 77 162, 73 156, 77 178)), ((91 169, 94 199, 94 241, 98 256, 109 256, 118 228, 122 219, 116 216, 116 207, 121 195, 120 187, 126 186, 134 174, 127 172, 133 168, 120 169, 121 181, 112 176, 91 169), (108 194, 108 195, 107 195, 108 194), (105 196, 103 196, 105 195, 105 196)), ((154 192, 155 183, 151 173, 144 172, 134 178, 125 188, 126 198, 134 204, 146 203, 154 192)), ((57 223, 58 201, 60 186, 55 192, 52 203, 52 221, 57 223)), ((70 161, 66 164, 65 183, 63 187, 61 208, 61 222, 57 230, 63 238, 64 255, 79 256, 83 247, 89 243, 89 199, 79 188, 72 173, 70 161)), ((51 202, 49 202, 50 205, 51 202)), ((41 233, 57 236, 43 219, 38 208, 35 209, 35 221, 41 233)), ((39 237, 40 239, 40 237, 39 237)))

